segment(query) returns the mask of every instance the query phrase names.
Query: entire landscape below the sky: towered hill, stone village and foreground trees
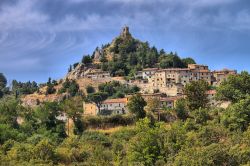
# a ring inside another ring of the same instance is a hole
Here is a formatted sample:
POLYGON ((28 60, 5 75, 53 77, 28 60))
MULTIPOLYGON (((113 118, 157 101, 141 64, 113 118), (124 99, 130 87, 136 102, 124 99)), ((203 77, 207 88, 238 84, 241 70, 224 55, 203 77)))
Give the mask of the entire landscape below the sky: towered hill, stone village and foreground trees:
POLYGON ((249 165, 250 74, 129 28, 46 83, 0 73, 0 165, 249 165))

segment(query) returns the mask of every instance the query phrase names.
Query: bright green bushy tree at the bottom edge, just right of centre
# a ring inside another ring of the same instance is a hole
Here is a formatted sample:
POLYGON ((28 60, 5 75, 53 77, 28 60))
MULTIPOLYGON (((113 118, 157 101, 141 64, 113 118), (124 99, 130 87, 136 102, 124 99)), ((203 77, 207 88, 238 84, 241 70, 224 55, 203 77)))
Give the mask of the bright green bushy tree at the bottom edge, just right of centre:
POLYGON ((163 124, 152 126, 148 118, 136 123, 136 136, 129 141, 128 158, 129 165, 155 165, 158 160, 164 161, 165 134, 163 124))

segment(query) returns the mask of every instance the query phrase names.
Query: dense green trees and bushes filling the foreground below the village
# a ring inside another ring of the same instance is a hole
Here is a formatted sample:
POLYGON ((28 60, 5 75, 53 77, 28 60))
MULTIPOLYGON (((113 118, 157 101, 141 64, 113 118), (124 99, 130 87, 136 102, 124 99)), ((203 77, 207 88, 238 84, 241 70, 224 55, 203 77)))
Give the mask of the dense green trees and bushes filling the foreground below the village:
MULTIPOLYGON (((228 108, 209 107, 204 82, 188 84, 186 99, 178 100, 173 110, 159 112, 176 116, 167 122, 158 122, 155 116, 144 118, 145 110, 156 112, 157 105, 149 103, 144 110, 147 103, 140 95, 128 103, 131 114, 107 117, 82 117, 80 95, 36 108, 24 107, 14 95, 5 95, 0 100, 0 163, 250 165, 248 78, 243 72, 218 87, 218 97, 232 102, 228 108)), ((100 88, 87 98, 97 103, 108 98, 112 90, 101 87, 108 90, 100 88)))

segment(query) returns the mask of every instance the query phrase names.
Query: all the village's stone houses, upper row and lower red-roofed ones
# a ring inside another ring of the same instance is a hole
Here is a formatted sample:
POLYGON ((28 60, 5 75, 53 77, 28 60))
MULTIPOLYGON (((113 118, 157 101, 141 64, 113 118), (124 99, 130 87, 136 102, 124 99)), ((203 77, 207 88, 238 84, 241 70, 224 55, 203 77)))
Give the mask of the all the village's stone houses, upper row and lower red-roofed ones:
MULTIPOLYGON (((149 68, 137 73, 136 80, 129 81, 130 85, 137 85, 141 89, 141 95, 146 100, 157 99, 159 108, 174 108, 175 102, 183 97, 183 88, 191 81, 205 80, 211 86, 218 86, 230 75, 237 74, 236 70, 223 69, 220 71, 210 71, 206 65, 190 64, 187 68, 158 69, 149 68)), ((87 77, 92 79, 110 77, 108 73, 89 72, 87 77)), ((211 105, 216 105, 214 96, 215 90, 207 92, 211 105)), ((131 96, 118 99, 107 99, 98 108, 93 103, 84 103, 85 115, 105 114, 126 114, 128 112, 127 103, 131 96)))

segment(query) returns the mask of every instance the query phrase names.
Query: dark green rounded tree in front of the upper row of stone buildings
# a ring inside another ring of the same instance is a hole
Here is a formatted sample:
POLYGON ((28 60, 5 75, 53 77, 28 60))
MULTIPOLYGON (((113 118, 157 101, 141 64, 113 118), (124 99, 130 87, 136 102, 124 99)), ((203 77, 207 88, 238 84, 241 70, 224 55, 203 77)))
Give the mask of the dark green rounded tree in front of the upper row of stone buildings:
POLYGON ((208 104, 208 83, 204 80, 192 81, 184 88, 187 105, 190 110, 205 108, 208 104))

